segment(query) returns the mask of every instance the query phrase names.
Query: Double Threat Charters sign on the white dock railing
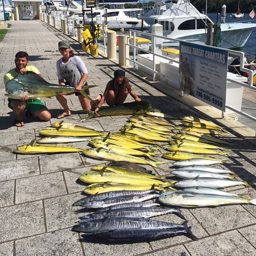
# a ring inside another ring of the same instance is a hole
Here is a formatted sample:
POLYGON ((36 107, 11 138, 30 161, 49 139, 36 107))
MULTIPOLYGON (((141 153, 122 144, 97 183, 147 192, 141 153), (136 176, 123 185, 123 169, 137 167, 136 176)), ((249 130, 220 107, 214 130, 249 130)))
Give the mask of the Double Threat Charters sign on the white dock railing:
POLYGON ((180 42, 180 90, 225 112, 228 52, 180 42))

